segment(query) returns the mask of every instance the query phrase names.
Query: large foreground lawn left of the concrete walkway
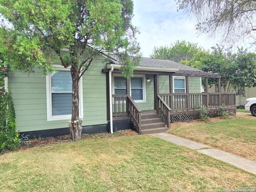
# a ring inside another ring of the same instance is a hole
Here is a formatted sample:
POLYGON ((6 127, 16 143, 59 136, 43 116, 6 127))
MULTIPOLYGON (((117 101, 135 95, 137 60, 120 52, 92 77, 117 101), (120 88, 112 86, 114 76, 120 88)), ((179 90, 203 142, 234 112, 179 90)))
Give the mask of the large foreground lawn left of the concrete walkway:
POLYGON ((1 191, 217 191, 256 175, 170 142, 135 135, 0 156, 1 191))

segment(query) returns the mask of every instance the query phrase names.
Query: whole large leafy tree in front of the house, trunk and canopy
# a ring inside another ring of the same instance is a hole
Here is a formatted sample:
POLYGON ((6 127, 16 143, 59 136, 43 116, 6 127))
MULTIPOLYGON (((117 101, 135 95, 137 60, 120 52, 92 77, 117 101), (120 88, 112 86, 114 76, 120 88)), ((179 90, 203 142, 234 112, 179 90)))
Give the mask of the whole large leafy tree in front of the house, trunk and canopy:
POLYGON ((78 82, 95 55, 116 54, 125 77, 132 76, 138 65, 138 31, 132 26, 132 13, 132 0, 0 0, 0 14, 7 21, 0 28, 0 52, 12 69, 31 73, 38 67, 50 73, 55 59, 65 68, 70 66, 69 127, 74 141, 82 133, 78 82))

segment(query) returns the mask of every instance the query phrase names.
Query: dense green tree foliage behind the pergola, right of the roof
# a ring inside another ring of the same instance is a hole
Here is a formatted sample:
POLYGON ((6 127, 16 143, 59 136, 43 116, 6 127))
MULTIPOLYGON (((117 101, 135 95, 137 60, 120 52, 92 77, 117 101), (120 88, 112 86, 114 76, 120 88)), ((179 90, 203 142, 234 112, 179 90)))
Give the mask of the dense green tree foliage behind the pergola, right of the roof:
MULTIPOLYGON (((238 53, 232 54, 216 46, 212 47, 212 52, 198 52, 191 60, 182 63, 221 75, 221 86, 225 92, 255 86, 256 54, 247 53, 247 50, 239 49, 238 53)), ((209 79, 210 86, 215 84, 216 79, 209 79)))

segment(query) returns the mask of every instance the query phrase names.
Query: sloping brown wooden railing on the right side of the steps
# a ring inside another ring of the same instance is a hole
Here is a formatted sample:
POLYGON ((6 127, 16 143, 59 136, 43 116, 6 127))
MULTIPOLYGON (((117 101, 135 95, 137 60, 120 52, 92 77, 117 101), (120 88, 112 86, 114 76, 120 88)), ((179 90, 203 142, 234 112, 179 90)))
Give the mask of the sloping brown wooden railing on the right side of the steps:
POLYGON ((167 127, 170 127, 170 112, 171 108, 163 100, 160 95, 157 95, 158 109, 156 110, 158 116, 162 118, 162 121, 166 123, 167 127))

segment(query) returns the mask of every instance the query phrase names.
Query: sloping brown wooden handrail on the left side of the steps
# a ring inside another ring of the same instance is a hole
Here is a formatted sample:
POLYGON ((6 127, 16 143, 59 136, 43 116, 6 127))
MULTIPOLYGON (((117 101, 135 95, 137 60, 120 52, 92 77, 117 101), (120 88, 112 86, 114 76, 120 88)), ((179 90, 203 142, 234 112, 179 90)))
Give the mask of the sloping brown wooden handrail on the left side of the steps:
POLYGON ((127 113, 134 125, 136 131, 141 134, 141 112, 142 110, 137 106, 130 95, 127 95, 127 113))

